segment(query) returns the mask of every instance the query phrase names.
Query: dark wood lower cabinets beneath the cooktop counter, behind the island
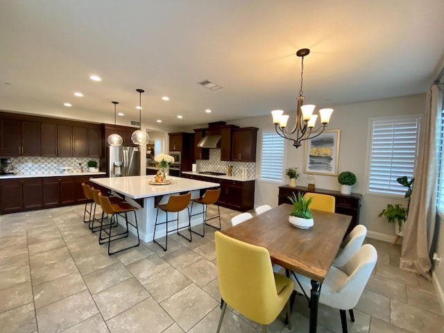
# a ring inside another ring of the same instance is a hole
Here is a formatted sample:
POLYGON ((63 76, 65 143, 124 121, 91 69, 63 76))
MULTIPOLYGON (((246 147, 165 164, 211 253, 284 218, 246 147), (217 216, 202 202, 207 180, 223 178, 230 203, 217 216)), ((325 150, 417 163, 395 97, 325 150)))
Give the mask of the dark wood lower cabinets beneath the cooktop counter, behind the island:
POLYGON ((204 182, 217 182, 221 185, 221 195, 217 205, 227 207, 239 212, 253 210, 255 205, 255 180, 241 182, 239 180, 225 180, 206 176, 182 173, 183 178, 203 180, 204 182))

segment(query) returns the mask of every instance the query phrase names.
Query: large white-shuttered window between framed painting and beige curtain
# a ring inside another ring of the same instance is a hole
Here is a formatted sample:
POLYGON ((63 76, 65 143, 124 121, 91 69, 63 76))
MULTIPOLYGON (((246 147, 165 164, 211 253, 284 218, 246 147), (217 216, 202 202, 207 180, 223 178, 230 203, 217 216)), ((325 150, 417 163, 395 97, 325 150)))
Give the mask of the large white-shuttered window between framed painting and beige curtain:
POLYGON ((396 178, 413 177, 420 120, 418 115, 370 119, 368 194, 404 196, 396 178))

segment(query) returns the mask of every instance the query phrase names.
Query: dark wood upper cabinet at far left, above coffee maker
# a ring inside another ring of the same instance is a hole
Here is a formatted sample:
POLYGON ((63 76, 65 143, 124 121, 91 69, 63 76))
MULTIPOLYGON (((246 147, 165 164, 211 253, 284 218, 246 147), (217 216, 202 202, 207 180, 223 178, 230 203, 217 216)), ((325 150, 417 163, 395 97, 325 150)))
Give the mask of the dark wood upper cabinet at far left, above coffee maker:
POLYGON ((19 119, 0 119, 3 156, 40 156, 40 123, 19 119), (37 138, 37 139, 36 139, 37 138))

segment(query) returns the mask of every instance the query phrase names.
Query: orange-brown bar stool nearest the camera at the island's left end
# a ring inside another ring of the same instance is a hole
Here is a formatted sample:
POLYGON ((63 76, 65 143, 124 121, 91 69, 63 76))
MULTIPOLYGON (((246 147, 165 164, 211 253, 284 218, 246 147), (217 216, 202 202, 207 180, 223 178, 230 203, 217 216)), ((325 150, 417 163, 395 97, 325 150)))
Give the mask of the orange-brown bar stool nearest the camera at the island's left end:
POLYGON ((107 231, 105 229, 105 225, 103 225, 103 223, 101 223, 100 235, 99 235, 99 244, 105 244, 106 242, 108 242, 108 255, 114 255, 114 253, 119 253, 123 250, 128 250, 128 248, 135 248, 136 246, 139 246, 139 244, 140 244, 139 228, 137 226, 137 216, 136 216, 136 210, 138 210, 138 208, 134 207, 133 205, 130 205, 129 203, 126 203, 126 202, 111 203, 110 198, 108 196, 102 196, 100 191, 99 191, 98 196, 99 196, 99 202, 100 202, 103 212, 105 212, 106 214, 111 216, 111 221, 109 224, 110 230, 107 231), (134 224, 131 223, 130 221, 128 221, 128 212, 134 213, 134 221, 135 221, 134 224), (117 222, 118 216, 122 216, 125 218, 126 230, 124 232, 120 232, 118 234, 112 234, 112 227, 114 226, 113 220, 114 220, 114 223, 117 225, 118 224, 118 222, 117 222), (133 228, 135 228, 135 230, 137 232, 137 243, 131 244, 130 246, 126 246, 124 248, 119 248, 119 250, 116 250, 116 251, 111 251, 110 247, 111 247, 112 241, 117 241, 118 239, 126 238, 129 236, 130 232, 129 232, 128 225, 131 225, 131 226, 133 226, 133 228), (108 236, 105 238, 102 238, 102 232, 104 234, 107 234, 108 236))

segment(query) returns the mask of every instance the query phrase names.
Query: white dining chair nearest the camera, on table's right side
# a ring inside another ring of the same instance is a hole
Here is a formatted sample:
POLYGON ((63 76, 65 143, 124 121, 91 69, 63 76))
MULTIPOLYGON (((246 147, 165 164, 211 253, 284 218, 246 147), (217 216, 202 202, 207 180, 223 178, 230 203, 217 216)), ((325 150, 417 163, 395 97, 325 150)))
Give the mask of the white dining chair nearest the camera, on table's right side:
MULTIPOLYGON (((376 261, 377 252, 375 247, 364 244, 345 265, 340 268, 330 267, 330 271, 325 277, 319 302, 334 309, 339 309, 343 333, 348 332, 345 311, 348 310, 351 320, 355 321, 353 308, 361 298, 362 291, 364 291, 373 268, 375 268, 376 261)), ((296 280, 294 289, 308 298, 311 290, 310 278, 298 273, 293 273, 291 278, 296 280)))

